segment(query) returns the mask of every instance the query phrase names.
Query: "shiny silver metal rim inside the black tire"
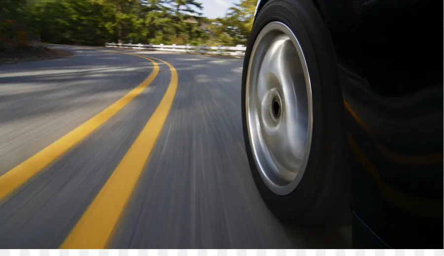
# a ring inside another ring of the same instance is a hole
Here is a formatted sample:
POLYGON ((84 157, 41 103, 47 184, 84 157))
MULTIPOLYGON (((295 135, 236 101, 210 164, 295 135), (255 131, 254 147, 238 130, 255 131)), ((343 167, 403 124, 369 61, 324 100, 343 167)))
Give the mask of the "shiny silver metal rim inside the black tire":
POLYGON ((272 192, 289 194, 307 165, 313 106, 304 54, 285 24, 271 22, 259 33, 245 95, 249 139, 259 174, 272 192))

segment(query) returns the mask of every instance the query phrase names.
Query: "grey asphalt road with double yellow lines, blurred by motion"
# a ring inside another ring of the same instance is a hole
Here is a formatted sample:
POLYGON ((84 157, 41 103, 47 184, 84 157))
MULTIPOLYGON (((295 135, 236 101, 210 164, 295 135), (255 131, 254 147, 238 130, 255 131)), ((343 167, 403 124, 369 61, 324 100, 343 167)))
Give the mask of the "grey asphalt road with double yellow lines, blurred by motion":
POLYGON ((0 65, 0 248, 351 246, 261 200, 243 60, 55 47, 74 56, 0 65))

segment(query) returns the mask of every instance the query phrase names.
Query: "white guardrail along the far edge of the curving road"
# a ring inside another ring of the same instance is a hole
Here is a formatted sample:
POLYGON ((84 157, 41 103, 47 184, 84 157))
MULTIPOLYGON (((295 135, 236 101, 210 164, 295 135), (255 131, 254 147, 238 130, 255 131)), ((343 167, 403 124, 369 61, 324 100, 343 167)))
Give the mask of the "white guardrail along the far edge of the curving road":
POLYGON ((126 48, 138 50, 155 50, 167 52, 200 53, 214 55, 228 55, 242 57, 245 55, 245 46, 238 44, 236 46, 192 46, 192 45, 164 45, 164 44, 125 44, 125 43, 105 43, 105 47, 126 48))

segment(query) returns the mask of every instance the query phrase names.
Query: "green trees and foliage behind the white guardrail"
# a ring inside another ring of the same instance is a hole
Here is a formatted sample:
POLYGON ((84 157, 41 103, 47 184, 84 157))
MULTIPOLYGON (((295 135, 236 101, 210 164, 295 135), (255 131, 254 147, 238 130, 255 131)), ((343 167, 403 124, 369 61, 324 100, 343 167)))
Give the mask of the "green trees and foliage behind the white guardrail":
POLYGON ((245 44, 256 1, 240 0, 225 17, 210 20, 198 0, 1 0, 0 47, 19 45, 24 34, 81 45, 245 44))

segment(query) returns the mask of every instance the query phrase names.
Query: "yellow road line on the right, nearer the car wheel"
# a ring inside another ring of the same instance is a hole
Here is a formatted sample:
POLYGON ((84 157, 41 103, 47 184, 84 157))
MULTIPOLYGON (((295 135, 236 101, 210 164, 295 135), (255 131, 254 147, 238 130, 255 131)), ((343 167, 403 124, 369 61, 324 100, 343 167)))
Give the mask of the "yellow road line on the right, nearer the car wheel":
POLYGON ((103 249, 112 237, 165 123, 178 86, 176 69, 156 60, 170 67, 168 89, 133 145, 63 242, 62 249, 103 249))

